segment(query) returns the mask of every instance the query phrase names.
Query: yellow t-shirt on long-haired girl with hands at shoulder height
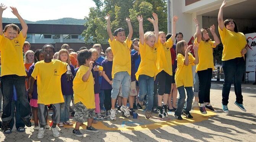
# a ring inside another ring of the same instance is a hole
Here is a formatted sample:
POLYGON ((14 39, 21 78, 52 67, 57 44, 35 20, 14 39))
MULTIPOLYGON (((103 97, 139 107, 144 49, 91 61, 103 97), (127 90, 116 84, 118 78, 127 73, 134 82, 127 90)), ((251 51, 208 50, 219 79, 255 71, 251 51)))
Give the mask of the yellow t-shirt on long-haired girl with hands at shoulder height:
POLYGON ((188 53, 188 66, 184 65, 185 56, 182 54, 177 55, 177 71, 175 73, 175 83, 177 87, 192 87, 193 86, 193 74, 192 66, 195 65, 195 58, 191 53, 188 53))

